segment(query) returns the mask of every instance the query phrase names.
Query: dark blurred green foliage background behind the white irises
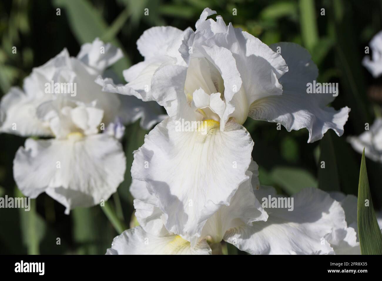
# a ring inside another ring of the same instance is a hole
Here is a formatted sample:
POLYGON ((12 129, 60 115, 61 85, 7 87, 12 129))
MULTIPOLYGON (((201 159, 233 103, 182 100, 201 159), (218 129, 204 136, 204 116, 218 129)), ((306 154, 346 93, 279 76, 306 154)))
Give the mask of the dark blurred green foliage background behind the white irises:
MULTIPOLYGON (((330 130, 308 144, 308 131, 275 130, 275 123, 247 120, 254 139, 253 158, 262 184, 293 194, 315 186, 357 195, 361 154, 346 137, 364 132, 381 115, 382 80, 373 79, 361 65, 365 46, 382 29, 382 1, 377 0, 4 0, 0 2, 0 94, 22 86, 25 76, 57 55, 64 47, 77 55, 80 45, 95 37, 123 49, 125 58, 113 66, 122 70, 142 60, 136 41, 151 26, 194 28, 206 7, 216 10, 266 44, 296 42, 306 47, 319 68, 320 82, 338 82, 339 96, 332 106, 351 108, 345 133, 330 130), (60 8, 61 15, 56 15, 60 8), (144 9, 149 8, 149 15, 144 9), (233 15, 233 8, 237 15, 233 15), (321 15, 322 8, 325 15, 321 15), (17 54, 12 54, 12 47, 17 54), (373 93, 372 95, 369 93, 373 93), (325 169, 318 163, 325 161, 325 169)), ((123 145, 127 156, 125 182, 109 200, 128 226, 133 214, 130 167, 132 152, 143 143, 138 123, 128 125, 123 145)), ((25 139, 0 135, 0 197, 22 196, 12 174, 16 150, 25 139)), ((380 163, 367 160, 374 206, 382 207, 380 163)), ((70 215, 45 193, 32 200, 32 209, 0 209, 0 254, 104 254, 117 232, 99 206, 76 209, 70 215), (57 238, 60 245, 57 245, 57 238)))

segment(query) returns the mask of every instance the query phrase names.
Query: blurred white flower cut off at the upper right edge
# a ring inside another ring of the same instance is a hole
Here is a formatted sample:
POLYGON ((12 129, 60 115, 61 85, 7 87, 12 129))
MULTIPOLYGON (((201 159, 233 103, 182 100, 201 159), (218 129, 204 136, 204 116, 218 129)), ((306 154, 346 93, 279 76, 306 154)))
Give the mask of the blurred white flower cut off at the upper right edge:
POLYGON ((372 50, 372 57, 366 55, 362 64, 374 78, 377 78, 382 74, 382 31, 374 35, 369 45, 372 50))

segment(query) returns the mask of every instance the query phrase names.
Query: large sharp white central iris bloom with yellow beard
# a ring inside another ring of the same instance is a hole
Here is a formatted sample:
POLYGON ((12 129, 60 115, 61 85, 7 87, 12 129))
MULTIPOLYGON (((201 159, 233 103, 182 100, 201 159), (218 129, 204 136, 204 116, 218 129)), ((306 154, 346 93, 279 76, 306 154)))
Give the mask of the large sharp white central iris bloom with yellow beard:
MULTIPOLYGON (((342 135, 350 110, 326 107, 331 94, 306 92, 318 72, 305 49, 292 43, 268 47, 220 16, 207 19, 214 13, 206 8, 195 32, 147 30, 137 42, 144 62, 124 72, 129 83, 97 81, 104 91, 165 107, 169 117, 134 153, 131 174, 157 198, 165 228, 192 245, 208 219, 250 182, 254 143, 242 125, 248 116, 281 123, 288 131, 305 127, 312 142, 329 128, 342 135), (208 133, 178 132, 182 119, 204 121, 208 133)), ((265 220, 258 210, 250 217, 247 222, 265 220)))

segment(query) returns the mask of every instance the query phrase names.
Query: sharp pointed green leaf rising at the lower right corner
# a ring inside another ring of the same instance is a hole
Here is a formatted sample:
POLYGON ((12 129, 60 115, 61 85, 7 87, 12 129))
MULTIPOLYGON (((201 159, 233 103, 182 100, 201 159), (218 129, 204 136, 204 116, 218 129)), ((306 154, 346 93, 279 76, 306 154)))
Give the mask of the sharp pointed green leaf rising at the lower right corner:
POLYGON ((369 179, 367 178, 365 149, 363 149, 358 184, 358 235, 362 255, 382 255, 382 234, 374 213, 369 179))

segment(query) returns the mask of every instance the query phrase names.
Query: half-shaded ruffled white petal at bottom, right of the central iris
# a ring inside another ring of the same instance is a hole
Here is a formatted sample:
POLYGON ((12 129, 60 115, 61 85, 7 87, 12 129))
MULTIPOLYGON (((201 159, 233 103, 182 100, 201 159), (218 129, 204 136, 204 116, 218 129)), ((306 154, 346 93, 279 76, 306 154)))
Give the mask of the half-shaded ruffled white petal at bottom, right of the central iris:
MULTIPOLYGON (((254 190, 256 198, 276 197, 273 188, 254 190)), ((265 208, 267 221, 232 228, 224 240, 251 254, 334 253, 325 236, 336 228, 346 228, 339 202, 317 188, 304 188, 287 208, 265 208)))

